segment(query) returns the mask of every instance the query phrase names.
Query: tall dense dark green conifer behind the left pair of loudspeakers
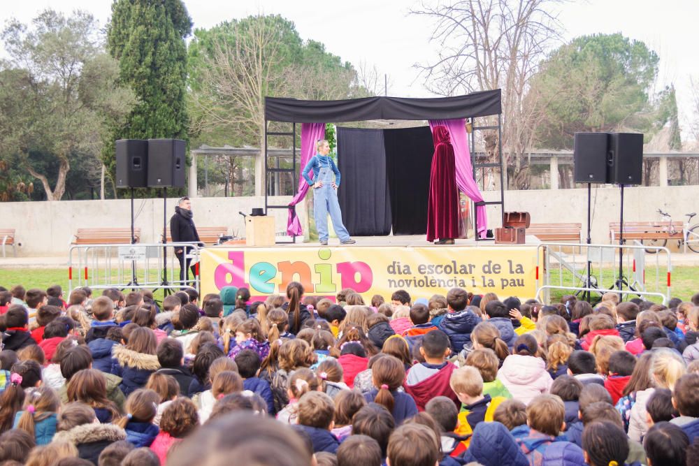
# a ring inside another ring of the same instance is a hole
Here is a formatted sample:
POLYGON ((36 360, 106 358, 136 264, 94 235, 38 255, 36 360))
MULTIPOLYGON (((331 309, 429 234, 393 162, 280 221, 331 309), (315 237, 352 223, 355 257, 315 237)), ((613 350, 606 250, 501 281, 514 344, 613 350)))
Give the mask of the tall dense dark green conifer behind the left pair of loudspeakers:
MULTIPOLYGON (((187 140, 187 45, 192 20, 181 0, 115 0, 107 47, 119 60, 120 80, 139 99, 116 139, 187 140)), ((105 154, 115 170, 114 148, 105 154)))

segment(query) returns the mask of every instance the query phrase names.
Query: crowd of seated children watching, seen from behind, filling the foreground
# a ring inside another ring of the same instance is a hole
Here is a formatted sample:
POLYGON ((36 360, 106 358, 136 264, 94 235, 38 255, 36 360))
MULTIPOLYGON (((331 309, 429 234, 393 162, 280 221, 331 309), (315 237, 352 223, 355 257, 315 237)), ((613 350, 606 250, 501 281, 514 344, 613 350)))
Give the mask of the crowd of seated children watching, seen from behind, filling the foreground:
POLYGON ((699 465, 699 293, 0 287, 0 466, 699 465))

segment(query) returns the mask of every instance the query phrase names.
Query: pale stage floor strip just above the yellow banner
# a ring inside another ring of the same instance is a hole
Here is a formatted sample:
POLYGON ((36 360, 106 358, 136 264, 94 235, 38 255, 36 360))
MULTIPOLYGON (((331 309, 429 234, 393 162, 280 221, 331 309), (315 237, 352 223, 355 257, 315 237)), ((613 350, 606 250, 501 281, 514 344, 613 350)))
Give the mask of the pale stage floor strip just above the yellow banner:
MULTIPOLYGON (((449 247, 512 247, 512 246, 536 246, 540 244, 540 240, 532 235, 527 235, 525 238, 524 245, 507 245, 498 244, 496 245, 493 240, 476 241, 473 238, 455 240, 454 245, 435 245, 432 242, 428 242, 425 239, 425 235, 387 235, 387 236, 352 236, 352 239, 356 241, 354 245, 340 245, 340 240, 338 238, 330 238, 328 242, 329 247, 436 247, 436 248, 449 248, 449 247)), ((274 247, 319 247, 320 243, 315 242, 301 242, 297 240, 296 242, 291 242, 290 238, 287 237, 277 237, 278 242, 274 247), (284 242, 281 242, 283 238, 284 242)), ((247 246, 245 242, 231 242, 229 244, 222 245, 223 247, 256 247, 247 246)), ((262 246, 260 246, 262 247, 262 246)), ((270 247, 270 246, 268 246, 270 247)))

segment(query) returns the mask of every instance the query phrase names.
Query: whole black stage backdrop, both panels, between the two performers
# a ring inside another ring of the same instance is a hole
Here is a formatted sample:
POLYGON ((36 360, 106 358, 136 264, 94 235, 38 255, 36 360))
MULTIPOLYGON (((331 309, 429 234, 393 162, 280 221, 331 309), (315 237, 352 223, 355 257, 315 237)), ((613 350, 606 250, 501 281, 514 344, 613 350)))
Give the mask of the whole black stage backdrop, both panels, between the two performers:
POLYGON ((338 126, 338 191, 351 235, 424 235, 434 145, 428 126, 338 126))

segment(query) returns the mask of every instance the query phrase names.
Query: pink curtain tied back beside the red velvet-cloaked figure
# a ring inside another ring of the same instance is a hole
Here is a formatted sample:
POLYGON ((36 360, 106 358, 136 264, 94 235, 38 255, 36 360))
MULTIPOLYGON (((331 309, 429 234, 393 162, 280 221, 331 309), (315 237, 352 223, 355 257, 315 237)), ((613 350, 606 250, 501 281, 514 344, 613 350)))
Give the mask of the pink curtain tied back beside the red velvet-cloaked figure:
MULTIPOLYGON (((473 167, 471 166, 471 154, 468 147, 468 133, 466 133, 466 122, 463 118, 457 119, 431 119, 430 129, 434 131, 435 126, 446 126, 454 146, 454 157, 456 159, 456 186, 466 194, 473 202, 482 202, 483 195, 478 189, 478 185, 473 179, 473 167)), ((476 206, 476 219, 478 222, 478 234, 480 238, 485 238, 488 219, 485 205, 476 206)))

